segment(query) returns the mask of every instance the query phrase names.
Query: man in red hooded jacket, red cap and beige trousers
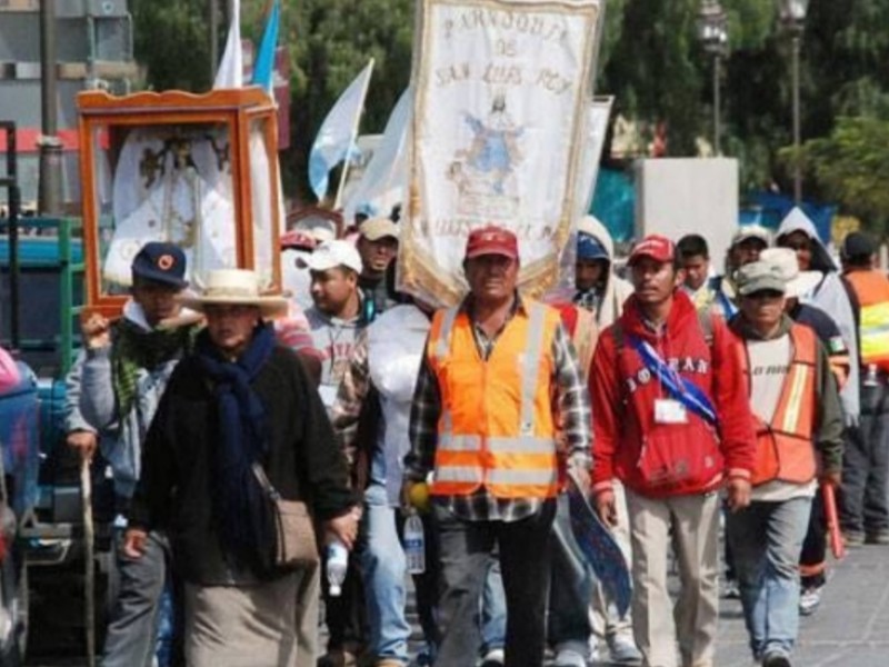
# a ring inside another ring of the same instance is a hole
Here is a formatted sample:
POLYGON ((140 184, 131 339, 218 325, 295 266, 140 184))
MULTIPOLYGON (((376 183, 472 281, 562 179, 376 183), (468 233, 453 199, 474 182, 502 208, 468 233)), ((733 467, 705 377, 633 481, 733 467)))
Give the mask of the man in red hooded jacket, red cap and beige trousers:
POLYGON ((592 364, 592 492, 616 525, 612 479, 627 488, 636 643, 648 667, 712 667, 718 616, 718 492, 750 501, 755 434, 740 341, 723 320, 701 318, 678 287, 672 241, 649 236, 629 267, 636 293, 602 332, 592 364), (667 551, 682 593, 673 610, 667 551))

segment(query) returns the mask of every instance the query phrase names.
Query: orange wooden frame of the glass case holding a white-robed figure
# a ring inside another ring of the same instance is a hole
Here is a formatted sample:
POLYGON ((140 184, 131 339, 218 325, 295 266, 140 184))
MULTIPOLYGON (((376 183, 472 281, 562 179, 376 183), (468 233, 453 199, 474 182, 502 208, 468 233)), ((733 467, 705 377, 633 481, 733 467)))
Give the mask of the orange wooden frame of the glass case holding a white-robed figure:
POLYGON ((260 88, 213 90, 206 94, 183 91, 138 92, 124 97, 103 91, 87 91, 77 98, 80 135, 80 178, 82 187, 83 245, 86 255, 86 303, 90 311, 109 317, 120 313, 126 296, 102 291, 102 257, 99 245, 99 203, 97 201, 98 166, 97 131, 110 128, 189 127, 196 125, 224 125, 231 146, 231 180, 234 195, 234 223, 237 266, 254 269, 256 241, 252 221, 252 185, 249 129, 254 120, 262 121, 266 151, 269 156, 269 186, 272 201, 270 229, 272 239, 272 285, 270 291, 281 289, 281 262, 278 207, 279 183, 277 137, 278 125, 273 100, 260 88))

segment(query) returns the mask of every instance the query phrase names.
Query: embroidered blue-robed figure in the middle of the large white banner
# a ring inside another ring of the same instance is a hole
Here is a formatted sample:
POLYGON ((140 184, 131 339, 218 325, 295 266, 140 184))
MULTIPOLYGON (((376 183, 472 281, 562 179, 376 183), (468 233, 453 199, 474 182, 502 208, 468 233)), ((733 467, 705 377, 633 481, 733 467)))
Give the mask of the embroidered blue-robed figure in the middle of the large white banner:
POLYGON ((522 161, 517 126, 507 111, 506 96, 498 93, 486 119, 469 112, 463 118, 472 130, 468 148, 455 153, 448 178, 457 186, 457 210, 462 216, 510 217, 519 210, 516 167, 522 161))

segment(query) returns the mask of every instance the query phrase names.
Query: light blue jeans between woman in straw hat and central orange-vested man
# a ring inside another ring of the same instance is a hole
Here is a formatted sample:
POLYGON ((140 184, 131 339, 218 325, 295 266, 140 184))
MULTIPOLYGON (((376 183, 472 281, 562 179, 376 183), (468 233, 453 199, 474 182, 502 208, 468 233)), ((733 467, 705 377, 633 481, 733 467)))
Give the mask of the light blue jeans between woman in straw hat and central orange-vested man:
POLYGON ((377 659, 408 664, 410 625, 406 617, 408 564, 398 538, 396 509, 386 487, 371 484, 364 491, 364 537, 360 551, 370 626, 369 649, 377 659))

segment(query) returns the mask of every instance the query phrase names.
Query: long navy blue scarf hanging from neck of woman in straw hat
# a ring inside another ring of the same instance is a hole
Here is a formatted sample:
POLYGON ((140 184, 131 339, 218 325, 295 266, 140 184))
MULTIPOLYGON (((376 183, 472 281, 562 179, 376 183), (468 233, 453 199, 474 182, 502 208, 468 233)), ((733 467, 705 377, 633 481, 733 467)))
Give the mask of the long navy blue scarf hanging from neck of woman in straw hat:
POLYGON ((269 325, 257 326, 237 361, 221 357, 207 330, 201 331, 196 345, 217 399, 219 439, 210 464, 217 532, 227 558, 259 571, 271 565, 274 516, 252 470, 252 464, 262 462, 268 452, 269 425, 250 382, 268 362, 273 347, 274 332, 269 325))

